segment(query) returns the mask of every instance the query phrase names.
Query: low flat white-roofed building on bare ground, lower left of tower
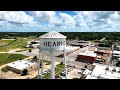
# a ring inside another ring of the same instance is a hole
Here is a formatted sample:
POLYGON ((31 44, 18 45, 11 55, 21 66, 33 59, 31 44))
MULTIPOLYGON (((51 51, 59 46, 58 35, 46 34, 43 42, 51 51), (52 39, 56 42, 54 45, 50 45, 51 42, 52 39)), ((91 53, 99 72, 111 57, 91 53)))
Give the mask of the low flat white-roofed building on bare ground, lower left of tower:
POLYGON ((25 69, 28 72, 36 69, 37 63, 31 62, 29 60, 18 60, 7 64, 6 68, 22 75, 25 69))

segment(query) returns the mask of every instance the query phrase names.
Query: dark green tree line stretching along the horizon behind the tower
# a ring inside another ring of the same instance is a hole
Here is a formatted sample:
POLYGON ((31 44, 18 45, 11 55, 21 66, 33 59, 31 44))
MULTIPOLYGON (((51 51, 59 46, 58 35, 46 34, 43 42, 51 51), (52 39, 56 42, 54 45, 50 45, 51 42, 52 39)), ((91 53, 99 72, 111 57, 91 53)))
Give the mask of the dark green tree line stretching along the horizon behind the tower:
MULTIPOLYGON (((0 38, 5 37, 39 37, 46 32, 0 32, 0 38)), ((120 32, 61 32, 67 36, 67 39, 79 39, 79 40, 106 40, 120 41, 120 32)))

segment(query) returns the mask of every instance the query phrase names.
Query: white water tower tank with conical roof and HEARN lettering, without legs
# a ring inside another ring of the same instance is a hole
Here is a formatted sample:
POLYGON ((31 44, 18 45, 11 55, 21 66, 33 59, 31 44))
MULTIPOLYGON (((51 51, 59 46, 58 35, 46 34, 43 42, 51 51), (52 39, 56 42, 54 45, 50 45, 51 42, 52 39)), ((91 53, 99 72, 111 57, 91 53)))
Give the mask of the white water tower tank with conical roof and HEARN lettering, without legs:
POLYGON ((66 36, 59 32, 52 30, 40 36, 40 49, 41 50, 64 50, 66 47, 66 36))

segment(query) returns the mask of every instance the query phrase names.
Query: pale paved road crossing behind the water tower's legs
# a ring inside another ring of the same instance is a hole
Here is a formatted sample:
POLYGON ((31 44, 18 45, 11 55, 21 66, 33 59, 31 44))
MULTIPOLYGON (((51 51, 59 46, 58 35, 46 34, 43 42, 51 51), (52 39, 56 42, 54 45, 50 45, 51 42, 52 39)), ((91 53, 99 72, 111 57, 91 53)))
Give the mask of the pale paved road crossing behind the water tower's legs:
MULTIPOLYGON (((80 50, 76 51, 76 52, 73 52, 72 54, 66 56, 66 63, 68 64, 72 64, 72 65, 76 65, 76 66, 81 66, 81 63, 80 62, 76 62, 75 59, 77 58, 77 55, 78 53, 80 52, 84 52, 88 50, 88 47, 84 47, 84 48, 80 48, 80 50)), ((29 52, 29 51, 22 51, 22 52, 15 52, 15 51, 10 51, 10 52, 3 52, 3 53, 14 53, 14 54, 23 54, 23 55, 26 55, 26 56, 37 56, 39 57, 39 50, 38 49, 33 49, 32 52, 29 52)), ((61 54, 62 52, 55 52, 55 56, 56 55, 59 55, 61 54)), ((64 61, 64 58, 59 58, 59 57, 55 57, 54 56, 54 60, 56 62, 63 62, 64 61)), ((40 58, 42 59, 42 53, 40 53, 40 58)), ((44 52, 44 59, 46 60, 51 60, 51 56, 50 56, 50 53, 49 52, 44 52)))

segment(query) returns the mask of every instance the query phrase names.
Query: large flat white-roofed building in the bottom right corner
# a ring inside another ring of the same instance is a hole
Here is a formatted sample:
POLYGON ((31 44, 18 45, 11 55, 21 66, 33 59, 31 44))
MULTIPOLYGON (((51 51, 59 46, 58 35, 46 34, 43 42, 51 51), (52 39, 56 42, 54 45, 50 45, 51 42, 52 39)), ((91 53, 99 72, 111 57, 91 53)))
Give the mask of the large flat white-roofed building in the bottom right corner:
POLYGON ((95 68, 89 74, 86 79, 120 79, 120 67, 96 64, 95 68))

